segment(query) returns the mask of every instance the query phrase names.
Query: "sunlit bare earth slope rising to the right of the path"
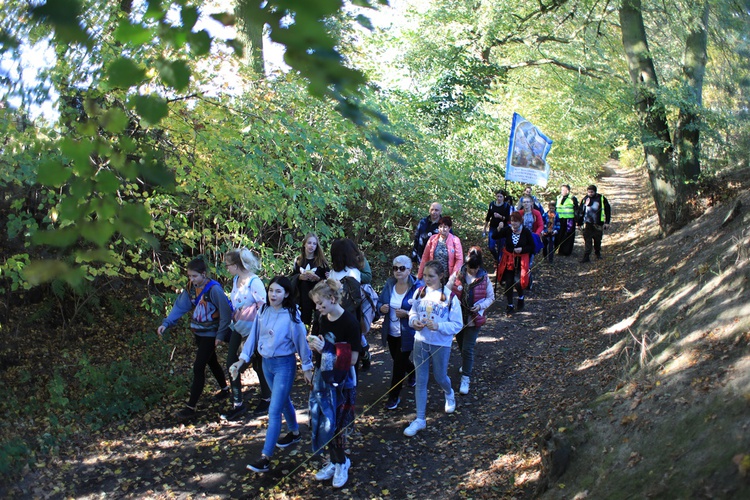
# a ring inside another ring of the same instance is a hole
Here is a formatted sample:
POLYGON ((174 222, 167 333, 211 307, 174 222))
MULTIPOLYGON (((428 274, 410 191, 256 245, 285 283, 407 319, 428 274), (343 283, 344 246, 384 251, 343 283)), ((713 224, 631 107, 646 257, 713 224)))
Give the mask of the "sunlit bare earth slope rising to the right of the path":
POLYGON ((623 294, 640 304, 587 363, 617 358, 623 373, 556 439, 572 458, 545 498, 750 498, 747 174, 723 179, 724 202, 668 238, 655 215, 621 231, 623 294))

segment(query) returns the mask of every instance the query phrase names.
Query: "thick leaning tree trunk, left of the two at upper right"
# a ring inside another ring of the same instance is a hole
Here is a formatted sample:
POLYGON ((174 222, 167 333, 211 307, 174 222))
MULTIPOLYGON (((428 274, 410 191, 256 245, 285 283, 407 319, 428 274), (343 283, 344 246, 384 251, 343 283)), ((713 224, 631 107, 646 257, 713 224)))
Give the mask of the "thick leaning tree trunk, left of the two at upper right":
POLYGON ((659 226, 669 234, 684 225, 681 183, 675 175, 672 141, 664 106, 656 99, 659 81, 643 26, 641 0, 622 0, 620 5, 622 45, 630 79, 635 89, 635 108, 641 127, 651 191, 659 226))

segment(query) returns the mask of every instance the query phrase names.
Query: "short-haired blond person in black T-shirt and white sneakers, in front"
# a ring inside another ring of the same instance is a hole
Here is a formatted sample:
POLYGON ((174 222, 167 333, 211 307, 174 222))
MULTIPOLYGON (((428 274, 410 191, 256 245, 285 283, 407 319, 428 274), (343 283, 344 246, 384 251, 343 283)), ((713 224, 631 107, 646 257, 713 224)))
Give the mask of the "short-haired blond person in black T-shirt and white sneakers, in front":
POLYGON ((341 488, 349 479, 351 461, 345 450, 354 424, 357 397, 354 365, 361 348, 359 321, 341 307, 342 288, 339 280, 327 278, 310 292, 320 314, 321 334, 307 338, 315 364, 310 391, 313 453, 317 455, 328 449, 328 462, 315 474, 315 479, 333 478, 334 488, 341 488))

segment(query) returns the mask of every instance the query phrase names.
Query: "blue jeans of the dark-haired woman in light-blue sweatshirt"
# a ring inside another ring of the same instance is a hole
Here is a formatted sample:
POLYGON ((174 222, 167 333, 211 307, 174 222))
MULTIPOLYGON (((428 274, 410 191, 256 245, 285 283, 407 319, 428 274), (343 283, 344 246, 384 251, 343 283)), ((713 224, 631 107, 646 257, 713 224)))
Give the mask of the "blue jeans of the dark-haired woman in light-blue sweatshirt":
POLYGON ((266 431, 266 444, 263 445, 263 454, 267 457, 273 455, 276 442, 281 432, 281 415, 284 414, 286 426, 290 432, 298 432, 297 413, 292 404, 292 386, 294 385, 294 374, 297 371, 297 359, 294 354, 279 356, 276 358, 263 358, 263 374, 266 376, 268 386, 271 388, 271 404, 268 407, 268 430, 266 431))

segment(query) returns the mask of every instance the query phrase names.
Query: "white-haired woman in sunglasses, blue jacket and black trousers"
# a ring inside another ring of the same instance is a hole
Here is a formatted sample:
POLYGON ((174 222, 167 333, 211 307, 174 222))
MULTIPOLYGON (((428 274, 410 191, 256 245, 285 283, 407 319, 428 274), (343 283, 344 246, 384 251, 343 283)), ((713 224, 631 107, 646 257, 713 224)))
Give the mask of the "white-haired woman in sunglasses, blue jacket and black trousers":
POLYGON ((393 259, 393 276, 388 278, 378 298, 383 314, 381 339, 393 359, 391 388, 385 407, 395 410, 401 404, 401 387, 408 377, 409 387, 415 385, 414 363, 409 357, 414 348, 414 328, 409 326, 412 297, 419 282, 411 275, 412 261, 406 255, 393 259))

